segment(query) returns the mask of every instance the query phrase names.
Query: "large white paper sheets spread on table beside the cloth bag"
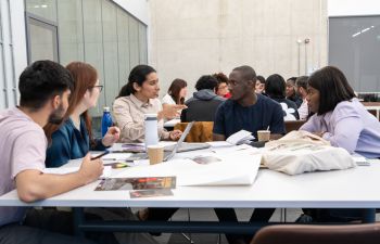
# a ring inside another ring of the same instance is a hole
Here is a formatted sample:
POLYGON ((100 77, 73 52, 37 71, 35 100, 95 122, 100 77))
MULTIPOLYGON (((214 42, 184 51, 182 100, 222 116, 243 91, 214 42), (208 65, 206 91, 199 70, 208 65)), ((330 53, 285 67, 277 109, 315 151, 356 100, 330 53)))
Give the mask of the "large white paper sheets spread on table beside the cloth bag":
POLYGON ((254 182, 259 163, 261 155, 251 152, 240 151, 228 156, 210 153, 193 159, 128 168, 114 177, 176 176, 177 185, 241 185, 254 182))

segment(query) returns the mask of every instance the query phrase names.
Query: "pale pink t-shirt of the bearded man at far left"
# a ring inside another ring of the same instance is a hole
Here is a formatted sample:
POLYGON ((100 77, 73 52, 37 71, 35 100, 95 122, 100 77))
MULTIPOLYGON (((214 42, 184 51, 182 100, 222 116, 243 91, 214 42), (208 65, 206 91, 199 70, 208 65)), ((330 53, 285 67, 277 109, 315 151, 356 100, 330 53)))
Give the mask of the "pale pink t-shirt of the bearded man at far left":
MULTIPOLYGON (((23 170, 45 168, 47 138, 42 128, 17 107, 0 112, 0 195, 15 189, 23 170)), ((25 207, 0 207, 0 226, 21 221, 25 207)))

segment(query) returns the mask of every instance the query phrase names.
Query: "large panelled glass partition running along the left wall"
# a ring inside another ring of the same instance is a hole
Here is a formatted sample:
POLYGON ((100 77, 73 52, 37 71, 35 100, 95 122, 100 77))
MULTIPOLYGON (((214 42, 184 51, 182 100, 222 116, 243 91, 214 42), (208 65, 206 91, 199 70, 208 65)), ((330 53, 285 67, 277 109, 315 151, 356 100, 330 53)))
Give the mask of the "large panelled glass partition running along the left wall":
MULTIPOLYGON (((137 64, 147 63, 147 26, 110 0, 25 2, 27 14, 56 25, 61 64, 84 61, 98 69, 100 82, 105 89, 98 107, 91 113, 101 115, 103 106, 112 106, 119 89, 127 81, 129 70, 137 64)), ((30 27, 34 30, 36 28, 29 24, 30 27)), ((50 35, 47 30, 42 33, 46 37, 50 35)), ((38 38, 33 33, 30 35, 30 40, 38 38)), ((47 40, 50 40, 50 36, 47 40)), ((31 49, 28 50, 31 53, 38 51, 31 49)), ((43 54, 52 55, 49 52, 43 54)))

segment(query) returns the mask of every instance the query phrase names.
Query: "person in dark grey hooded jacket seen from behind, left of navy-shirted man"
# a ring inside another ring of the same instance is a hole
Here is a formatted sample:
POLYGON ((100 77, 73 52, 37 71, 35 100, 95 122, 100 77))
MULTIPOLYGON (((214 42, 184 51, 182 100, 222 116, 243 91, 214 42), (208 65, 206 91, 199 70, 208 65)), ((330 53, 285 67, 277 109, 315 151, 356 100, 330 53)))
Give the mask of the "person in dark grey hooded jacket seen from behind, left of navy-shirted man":
POLYGON ((213 76, 201 76, 197 84, 193 97, 186 101, 188 108, 183 110, 181 121, 214 121, 216 108, 226 101, 215 94, 217 80, 213 76))

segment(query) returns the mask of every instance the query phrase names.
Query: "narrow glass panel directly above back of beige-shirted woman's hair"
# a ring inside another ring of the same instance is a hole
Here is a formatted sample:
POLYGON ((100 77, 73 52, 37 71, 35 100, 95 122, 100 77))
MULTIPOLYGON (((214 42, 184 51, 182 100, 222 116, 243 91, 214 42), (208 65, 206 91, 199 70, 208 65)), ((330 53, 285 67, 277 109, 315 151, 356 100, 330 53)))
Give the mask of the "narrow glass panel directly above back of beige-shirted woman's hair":
POLYGON ((128 15, 125 11, 117 9, 117 49, 118 49, 118 88, 127 84, 130 72, 129 65, 129 36, 128 15))

